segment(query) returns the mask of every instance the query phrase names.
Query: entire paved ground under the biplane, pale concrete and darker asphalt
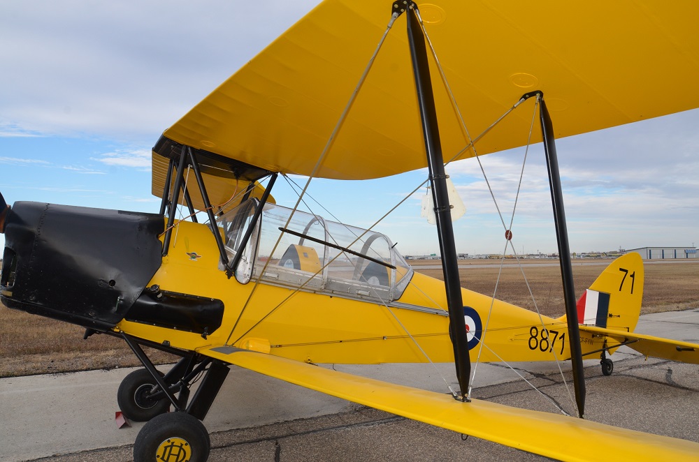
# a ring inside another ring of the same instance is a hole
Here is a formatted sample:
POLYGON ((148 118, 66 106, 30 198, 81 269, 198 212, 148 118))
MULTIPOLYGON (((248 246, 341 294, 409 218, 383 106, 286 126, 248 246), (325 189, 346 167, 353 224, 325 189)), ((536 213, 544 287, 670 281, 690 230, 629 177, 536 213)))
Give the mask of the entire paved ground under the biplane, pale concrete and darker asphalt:
MULTIPOLYGON (((637 332, 699 343, 699 308, 643 315, 637 332)), ((622 347, 614 373, 585 362, 586 418, 699 442, 699 366, 622 347)), ((458 389, 453 364, 324 365, 436 392, 458 389)), ((479 364, 473 397, 575 413, 554 363, 479 364)), ((570 386, 570 363, 561 363, 570 386)), ((133 369, 0 379, 0 461, 129 461, 143 426, 119 429, 116 391, 133 369)), ((233 367, 203 422, 210 461, 531 461, 535 454, 438 429, 233 367)), ((594 442, 589 448, 594 454, 594 442)), ((699 458, 699 454, 698 454, 699 458)), ((598 459, 605 459, 599 454, 598 459)))

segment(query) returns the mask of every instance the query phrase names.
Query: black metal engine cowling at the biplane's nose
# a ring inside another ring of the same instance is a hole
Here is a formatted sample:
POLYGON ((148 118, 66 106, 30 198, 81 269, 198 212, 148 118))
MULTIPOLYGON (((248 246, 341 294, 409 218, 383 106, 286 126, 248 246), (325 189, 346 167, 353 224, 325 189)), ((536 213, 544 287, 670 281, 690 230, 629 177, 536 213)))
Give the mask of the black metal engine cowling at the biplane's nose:
POLYGON ((0 299, 85 327, 114 327, 159 269, 163 231, 158 214, 15 202, 4 224, 0 299))

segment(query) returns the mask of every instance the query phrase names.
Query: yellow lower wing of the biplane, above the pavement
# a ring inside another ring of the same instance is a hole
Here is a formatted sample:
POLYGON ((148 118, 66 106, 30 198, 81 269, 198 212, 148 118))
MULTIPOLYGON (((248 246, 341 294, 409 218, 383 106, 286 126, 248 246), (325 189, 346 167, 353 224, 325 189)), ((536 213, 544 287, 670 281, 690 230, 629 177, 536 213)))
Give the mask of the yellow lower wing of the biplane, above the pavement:
POLYGON ((226 346, 198 352, 301 387, 554 459, 598 460, 604 454, 610 460, 699 460, 699 445, 677 438, 487 401, 461 403, 446 394, 226 346))

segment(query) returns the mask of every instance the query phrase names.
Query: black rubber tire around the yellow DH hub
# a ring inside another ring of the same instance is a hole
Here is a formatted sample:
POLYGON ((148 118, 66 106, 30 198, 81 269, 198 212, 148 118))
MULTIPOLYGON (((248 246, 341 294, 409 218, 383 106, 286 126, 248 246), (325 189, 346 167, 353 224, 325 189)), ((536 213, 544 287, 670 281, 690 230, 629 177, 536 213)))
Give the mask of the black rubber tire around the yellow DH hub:
POLYGON ((140 429, 134 443, 134 462, 153 462, 158 447, 171 438, 182 438, 192 451, 189 462, 206 462, 211 442, 206 427, 187 412, 161 414, 140 429))

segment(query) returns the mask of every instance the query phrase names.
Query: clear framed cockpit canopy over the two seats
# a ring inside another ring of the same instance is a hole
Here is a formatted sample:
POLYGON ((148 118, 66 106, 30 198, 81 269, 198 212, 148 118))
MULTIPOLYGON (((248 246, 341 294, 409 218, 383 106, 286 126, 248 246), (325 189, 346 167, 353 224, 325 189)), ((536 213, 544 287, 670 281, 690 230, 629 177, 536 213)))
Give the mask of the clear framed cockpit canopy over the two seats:
POLYGON ((249 199, 217 219, 229 261, 236 253, 243 253, 235 268, 239 282, 254 278, 306 291, 381 301, 400 298, 410 282, 412 269, 384 234, 301 211, 292 216, 291 209, 275 204, 265 204, 245 244, 243 236, 258 203, 249 199), (242 249, 241 242, 245 245, 242 249))

